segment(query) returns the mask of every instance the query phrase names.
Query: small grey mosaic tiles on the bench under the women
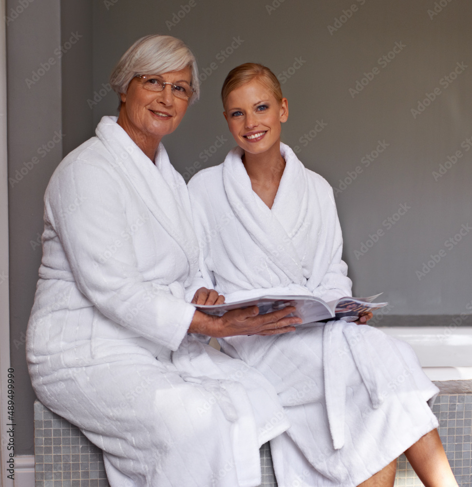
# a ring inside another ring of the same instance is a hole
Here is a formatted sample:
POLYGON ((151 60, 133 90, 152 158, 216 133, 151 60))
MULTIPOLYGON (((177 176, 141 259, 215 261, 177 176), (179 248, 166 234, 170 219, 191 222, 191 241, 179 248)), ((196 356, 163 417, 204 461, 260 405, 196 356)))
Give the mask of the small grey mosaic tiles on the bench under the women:
MULTIPOLYGON (((472 487, 472 381, 436 383, 441 393, 433 412, 439 435, 460 487, 472 487)), ((68 421, 35 402, 36 487, 108 487, 99 449, 68 421)), ((277 487, 269 445, 261 448, 263 487, 277 487)), ((404 455, 398 459, 396 486, 423 484, 404 455)))

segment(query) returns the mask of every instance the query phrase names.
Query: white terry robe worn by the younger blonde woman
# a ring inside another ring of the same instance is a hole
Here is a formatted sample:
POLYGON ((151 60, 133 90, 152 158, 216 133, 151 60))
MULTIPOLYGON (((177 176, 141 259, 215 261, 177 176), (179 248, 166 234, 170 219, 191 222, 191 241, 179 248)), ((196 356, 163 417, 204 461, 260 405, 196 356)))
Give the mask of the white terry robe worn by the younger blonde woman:
MULTIPOLYGON (((281 144, 286 165, 269 209, 252 190, 242 153, 231 150, 189 183, 207 287, 227 302, 350 296, 328 183, 281 144)), ((271 382, 290 420, 271 441, 279 487, 357 486, 437 427, 427 401, 438 389, 408 344, 373 327, 330 321, 219 342, 271 382)))

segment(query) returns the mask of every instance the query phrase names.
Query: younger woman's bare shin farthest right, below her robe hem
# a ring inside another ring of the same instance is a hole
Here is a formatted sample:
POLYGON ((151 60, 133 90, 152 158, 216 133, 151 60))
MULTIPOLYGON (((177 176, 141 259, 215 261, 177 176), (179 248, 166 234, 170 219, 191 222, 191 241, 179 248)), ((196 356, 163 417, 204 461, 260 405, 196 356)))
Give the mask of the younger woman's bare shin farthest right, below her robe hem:
POLYGON ((457 487, 437 430, 422 436, 405 456, 425 487, 457 487))

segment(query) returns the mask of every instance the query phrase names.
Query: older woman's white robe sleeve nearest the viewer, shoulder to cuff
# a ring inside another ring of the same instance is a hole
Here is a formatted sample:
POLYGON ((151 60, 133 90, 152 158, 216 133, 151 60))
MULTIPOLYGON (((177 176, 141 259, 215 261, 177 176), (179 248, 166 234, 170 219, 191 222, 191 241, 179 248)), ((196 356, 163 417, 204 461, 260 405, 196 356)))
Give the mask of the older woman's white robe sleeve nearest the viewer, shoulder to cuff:
POLYGON ((133 222, 127 215, 137 197, 107 161, 74 161, 53 176, 45 218, 57 233, 77 288, 96 309, 139 336, 176 350, 195 308, 139 272, 129 233, 133 222))

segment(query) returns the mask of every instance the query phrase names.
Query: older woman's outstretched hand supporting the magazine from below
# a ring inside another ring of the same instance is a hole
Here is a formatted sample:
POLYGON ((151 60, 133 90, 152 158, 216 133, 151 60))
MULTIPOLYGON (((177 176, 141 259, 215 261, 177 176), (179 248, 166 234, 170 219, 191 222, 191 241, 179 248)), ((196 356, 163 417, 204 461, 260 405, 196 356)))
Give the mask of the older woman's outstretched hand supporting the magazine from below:
POLYGON ((244 309, 227 311, 223 316, 210 316, 201 311, 195 311, 189 327, 189 333, 201 333, 209 337, 223 338, 236 335, 276 335, 295 331, 293 325, 302 320, 287 317, 295 311, 295 307, 288 306, 272 313, 259 315, 259 308, 251 306, 244 309))

